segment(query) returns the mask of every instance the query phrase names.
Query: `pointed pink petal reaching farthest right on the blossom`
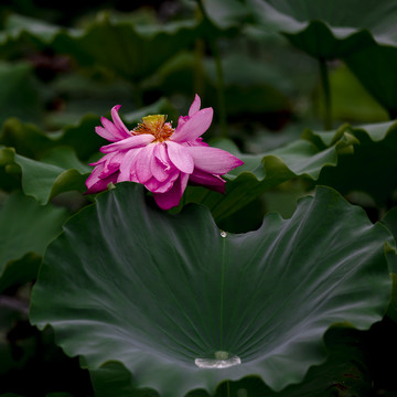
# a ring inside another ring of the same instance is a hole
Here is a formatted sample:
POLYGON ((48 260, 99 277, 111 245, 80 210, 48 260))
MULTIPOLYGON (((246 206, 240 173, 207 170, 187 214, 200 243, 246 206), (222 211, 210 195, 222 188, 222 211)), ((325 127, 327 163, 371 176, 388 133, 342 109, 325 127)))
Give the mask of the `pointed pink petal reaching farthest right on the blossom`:
POLYGON ((187 147, 186 150, 193 158, 194 167, 211 174, 223 175, 244 164, 242 160, 222 149, 194 146, 187 147))

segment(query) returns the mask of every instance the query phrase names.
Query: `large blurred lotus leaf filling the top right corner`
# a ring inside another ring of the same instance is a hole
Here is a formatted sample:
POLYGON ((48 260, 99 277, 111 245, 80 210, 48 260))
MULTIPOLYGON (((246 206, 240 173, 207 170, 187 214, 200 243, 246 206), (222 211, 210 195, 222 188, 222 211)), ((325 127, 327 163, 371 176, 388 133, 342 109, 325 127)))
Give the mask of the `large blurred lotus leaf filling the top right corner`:
POLYGON ((204 6, 219 26, 248 21, 267 32, 283 33, 294 46, 318 60, 345 61, 390 117, 396 117, 397 6, 394 2, 248 0, 229 4, 217 0, 204 1, 204 6))

